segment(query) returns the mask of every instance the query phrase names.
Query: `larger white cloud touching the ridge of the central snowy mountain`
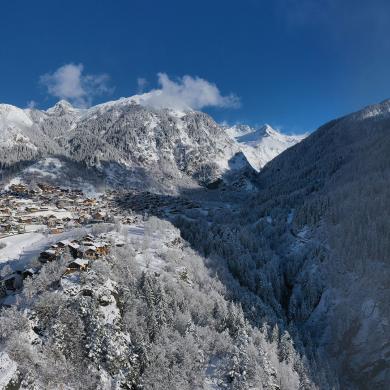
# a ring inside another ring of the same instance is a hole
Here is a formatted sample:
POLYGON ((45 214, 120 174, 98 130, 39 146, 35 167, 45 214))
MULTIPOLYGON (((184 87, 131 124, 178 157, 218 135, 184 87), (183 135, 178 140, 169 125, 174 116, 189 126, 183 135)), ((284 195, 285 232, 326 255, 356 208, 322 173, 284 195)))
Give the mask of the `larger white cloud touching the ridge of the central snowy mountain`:
POLYGON ((223 96, 215 84, 200 77, 186 75, 174 81, 166 73, 158 73, 158 82, 161 88, 140 95, 138 97, 140 104, 178 110, 240 106, 240 100, 236 95, 223 96))

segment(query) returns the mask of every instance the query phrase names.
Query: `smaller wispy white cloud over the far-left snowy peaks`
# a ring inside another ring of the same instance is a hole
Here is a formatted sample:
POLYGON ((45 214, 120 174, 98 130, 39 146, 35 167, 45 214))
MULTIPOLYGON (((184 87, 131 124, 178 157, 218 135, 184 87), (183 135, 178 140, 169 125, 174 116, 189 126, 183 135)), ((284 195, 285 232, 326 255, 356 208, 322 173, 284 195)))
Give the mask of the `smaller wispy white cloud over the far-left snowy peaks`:
POLYGON ((77 107, 88 107, 94 97, 112 93, 107 74, 89 75, 83 73, 83 64, 66 64, 54 73, 46 73, 40 81, 47 92, 60 99, 70 101, 77 107))

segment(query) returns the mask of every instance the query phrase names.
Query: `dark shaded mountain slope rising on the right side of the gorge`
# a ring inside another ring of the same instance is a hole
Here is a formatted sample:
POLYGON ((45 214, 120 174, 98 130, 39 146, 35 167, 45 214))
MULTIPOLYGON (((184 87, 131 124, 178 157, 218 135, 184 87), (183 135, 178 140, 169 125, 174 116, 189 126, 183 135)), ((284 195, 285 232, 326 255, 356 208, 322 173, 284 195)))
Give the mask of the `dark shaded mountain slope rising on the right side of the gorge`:
POLYGON ((324 343, 341 388, 390 383, 389 128, 387 100, 325 124, 259 174, 259 207, 296 210, 285 228, 313 253, 294 258, 290 318, 324 343))

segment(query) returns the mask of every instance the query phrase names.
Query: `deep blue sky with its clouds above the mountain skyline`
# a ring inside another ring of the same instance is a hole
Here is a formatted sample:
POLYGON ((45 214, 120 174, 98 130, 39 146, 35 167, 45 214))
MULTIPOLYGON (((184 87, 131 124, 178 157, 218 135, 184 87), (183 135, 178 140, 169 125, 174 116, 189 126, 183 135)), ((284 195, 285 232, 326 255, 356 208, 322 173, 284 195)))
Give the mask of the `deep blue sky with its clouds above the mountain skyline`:
POLYGON ((163 88, 218 121, 303 132, 390 97, 385 0, 14 0, 1 16, 0 102, 21 107, 163 88))

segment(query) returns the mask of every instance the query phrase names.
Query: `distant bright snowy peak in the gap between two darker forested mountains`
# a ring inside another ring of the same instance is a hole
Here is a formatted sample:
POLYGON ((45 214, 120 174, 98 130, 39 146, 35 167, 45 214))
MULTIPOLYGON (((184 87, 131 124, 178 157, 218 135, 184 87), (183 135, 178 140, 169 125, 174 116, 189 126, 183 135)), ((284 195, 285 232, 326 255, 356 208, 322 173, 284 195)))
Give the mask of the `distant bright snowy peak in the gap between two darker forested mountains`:
POLYGON ((282 134, 268 124, 257 128, 243 124, 226 126, 225 131, 239 143, 245 157, 257 171, 278 154, 306 137, 306 134, 282 134))

